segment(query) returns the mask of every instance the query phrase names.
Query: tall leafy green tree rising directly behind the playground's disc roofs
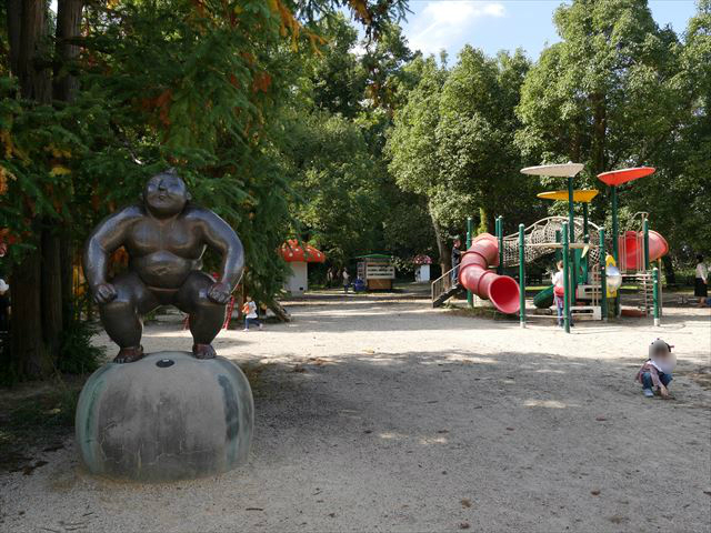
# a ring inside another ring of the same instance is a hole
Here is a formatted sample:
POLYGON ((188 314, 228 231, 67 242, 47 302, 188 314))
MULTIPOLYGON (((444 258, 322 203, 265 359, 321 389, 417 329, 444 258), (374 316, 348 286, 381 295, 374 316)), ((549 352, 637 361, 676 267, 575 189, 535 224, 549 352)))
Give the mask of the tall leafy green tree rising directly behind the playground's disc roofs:
POLYGON ((684 114, 677 36, 657 26, 647 0, 574 0, 554 23, 562 40, 527 76, 518 109, 528 161, 585 163, 589 185, 600 172, 648 164, 684 114))

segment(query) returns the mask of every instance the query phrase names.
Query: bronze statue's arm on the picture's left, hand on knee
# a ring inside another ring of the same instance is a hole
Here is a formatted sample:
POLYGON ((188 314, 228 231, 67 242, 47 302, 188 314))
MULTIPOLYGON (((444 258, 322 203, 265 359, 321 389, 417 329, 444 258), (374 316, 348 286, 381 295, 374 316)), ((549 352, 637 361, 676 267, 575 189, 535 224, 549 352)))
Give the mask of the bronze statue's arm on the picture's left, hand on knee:
POLYGON ((126 208, 110 214, 94 228, 87 240, 83 257, 84 276, 94 295, 97 289, 107 284, 109 258, 126 241, 129 225, 134 219, 134 210, 136 208, 126 208))

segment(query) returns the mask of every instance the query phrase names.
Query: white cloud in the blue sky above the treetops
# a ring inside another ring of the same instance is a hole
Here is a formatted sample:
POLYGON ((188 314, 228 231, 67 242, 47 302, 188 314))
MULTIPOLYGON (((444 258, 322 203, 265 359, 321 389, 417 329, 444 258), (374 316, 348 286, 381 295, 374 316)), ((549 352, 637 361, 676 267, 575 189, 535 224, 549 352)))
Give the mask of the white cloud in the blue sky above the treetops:
POLYGON ((485 0, 430 1, 408 24, 410 48, 438 53, 459 41, 474 21, 505 16, 503 3, 485 0))

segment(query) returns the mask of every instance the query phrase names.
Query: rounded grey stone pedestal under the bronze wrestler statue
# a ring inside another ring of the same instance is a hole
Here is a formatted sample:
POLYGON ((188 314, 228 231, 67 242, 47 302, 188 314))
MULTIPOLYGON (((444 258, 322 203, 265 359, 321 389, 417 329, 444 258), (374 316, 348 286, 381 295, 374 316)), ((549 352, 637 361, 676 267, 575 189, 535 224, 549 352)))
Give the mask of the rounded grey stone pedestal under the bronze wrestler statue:
POLYGON ((89 378, 77 405, 76 438, 92 474, 164 482, 244 464, 253 425, 252 391, 237 365, 157 352, 104 364, 89 378))

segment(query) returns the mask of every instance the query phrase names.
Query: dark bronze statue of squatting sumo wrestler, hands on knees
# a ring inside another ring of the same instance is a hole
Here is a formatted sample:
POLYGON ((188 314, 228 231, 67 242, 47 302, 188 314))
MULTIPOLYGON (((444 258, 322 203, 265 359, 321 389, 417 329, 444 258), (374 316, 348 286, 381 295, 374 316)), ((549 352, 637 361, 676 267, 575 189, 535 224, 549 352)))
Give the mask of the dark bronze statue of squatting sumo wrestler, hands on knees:
POLYGON ((89 237, 84 274, 107 333, 120 348, 117 363, 143 356, 141 315, 167 304, 190 315, 192 354, 216 356, 211 342, 242 275, 244 252, 224 220, 189 200, 186 183, 168 170, 148 180, 142 204, 111 214, 89 237), (222 254, 217 282, 198 270, 208 245, 222 254), (109 258, 121 247, 130 258, 129 271, 109 282, 109 258))

